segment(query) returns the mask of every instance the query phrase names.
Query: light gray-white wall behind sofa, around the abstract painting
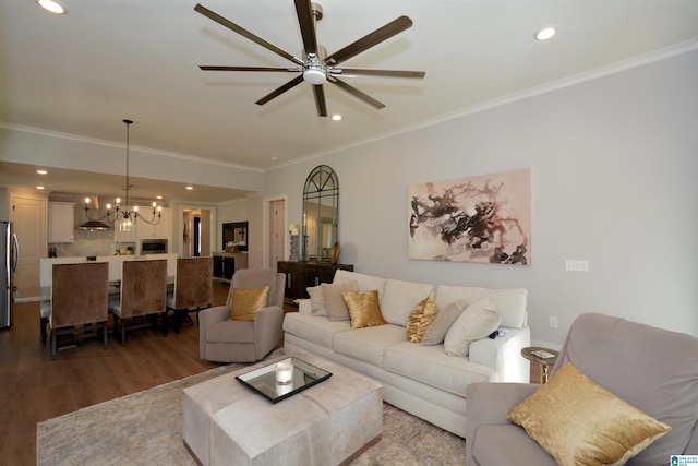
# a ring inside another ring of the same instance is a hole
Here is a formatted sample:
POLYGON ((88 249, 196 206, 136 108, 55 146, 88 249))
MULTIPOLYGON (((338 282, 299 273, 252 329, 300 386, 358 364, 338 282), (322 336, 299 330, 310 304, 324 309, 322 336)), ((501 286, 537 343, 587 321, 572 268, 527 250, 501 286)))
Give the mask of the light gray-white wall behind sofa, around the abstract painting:
POLYGON ((586 311, 698 335, 697 80, 693 51, 269 171, 264 195, 285 192, 288 223, 300 224, 305 177, 329 165, 340 262, 526 287, 535 342, 559 345, 586 311), (409 184, 520 168, 531 169, 531 265, 407 258, 409 184), (590 272, 564 272, 565 259, 590 272))

